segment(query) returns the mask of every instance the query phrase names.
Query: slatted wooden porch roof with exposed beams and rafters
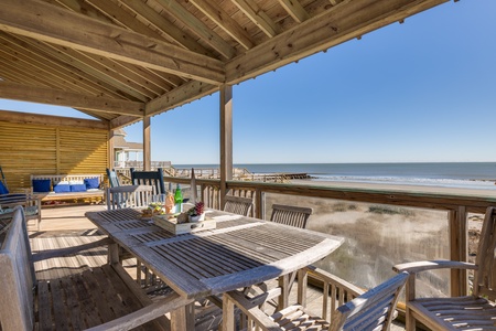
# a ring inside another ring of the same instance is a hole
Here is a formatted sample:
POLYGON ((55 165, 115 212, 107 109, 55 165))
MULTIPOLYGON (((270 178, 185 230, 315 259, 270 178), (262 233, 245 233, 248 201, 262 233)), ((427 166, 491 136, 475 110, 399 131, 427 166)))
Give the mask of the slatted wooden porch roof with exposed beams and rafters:
POLYGON ((120 128, 443 2, 2 0, 0 98, 120 128))

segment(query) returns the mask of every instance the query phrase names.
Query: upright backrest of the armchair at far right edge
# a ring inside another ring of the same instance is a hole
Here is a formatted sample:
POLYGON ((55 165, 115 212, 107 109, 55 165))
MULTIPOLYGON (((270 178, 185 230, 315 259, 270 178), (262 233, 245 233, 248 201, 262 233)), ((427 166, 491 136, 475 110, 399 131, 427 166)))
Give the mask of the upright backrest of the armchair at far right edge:
POLYGON ((484 223, 478 239, 477 257, 475 264, 474 296, 485 296, 489 300, 496 300, 496 263, 494 254, 496 249, 496 207, 486 210, 484 223))

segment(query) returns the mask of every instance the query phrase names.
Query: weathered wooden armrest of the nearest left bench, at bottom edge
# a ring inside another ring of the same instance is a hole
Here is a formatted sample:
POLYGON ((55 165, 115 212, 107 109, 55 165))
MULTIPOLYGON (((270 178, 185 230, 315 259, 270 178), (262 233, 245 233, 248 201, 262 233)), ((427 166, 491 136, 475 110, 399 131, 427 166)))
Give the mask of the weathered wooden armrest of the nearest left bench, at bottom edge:
POLYGON ((86 331, 118 331, 130 330, 136 327, 142 325, 157 318, 163 317, 165 313, 175 310, 180 307, 192 303, 193 299, 185 299, 180 295, 173 292, 165 298, 154 301, 153 303, 141 308, 137 311, 128 313, 121 318, 115 319, 110 322, 104 323, 98 327, 86 329, 86 331))

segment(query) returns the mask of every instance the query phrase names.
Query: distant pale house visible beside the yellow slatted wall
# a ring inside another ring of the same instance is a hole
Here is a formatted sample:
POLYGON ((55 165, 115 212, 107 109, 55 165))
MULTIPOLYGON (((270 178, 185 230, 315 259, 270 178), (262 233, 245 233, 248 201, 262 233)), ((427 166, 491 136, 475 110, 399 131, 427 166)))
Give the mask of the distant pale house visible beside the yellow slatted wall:
POLYGON ((114 132, 115 168, 130 168, 141 164, 143 161, 143 143, 126 141, 123 129, 114 132))

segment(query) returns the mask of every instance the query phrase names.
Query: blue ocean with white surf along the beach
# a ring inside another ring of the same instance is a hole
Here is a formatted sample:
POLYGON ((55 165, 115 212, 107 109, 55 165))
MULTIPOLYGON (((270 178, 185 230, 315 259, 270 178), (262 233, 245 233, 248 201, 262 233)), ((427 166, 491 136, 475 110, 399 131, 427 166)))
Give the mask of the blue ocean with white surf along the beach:
MULTIPOLYGON (((174 164, 218 168, 216 164, 174 164)), ((496 190, 496 162, 234 164, 252 173, 303 172, 310 180, 496 190)))

